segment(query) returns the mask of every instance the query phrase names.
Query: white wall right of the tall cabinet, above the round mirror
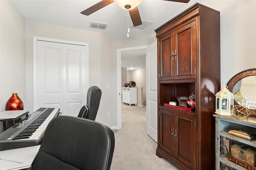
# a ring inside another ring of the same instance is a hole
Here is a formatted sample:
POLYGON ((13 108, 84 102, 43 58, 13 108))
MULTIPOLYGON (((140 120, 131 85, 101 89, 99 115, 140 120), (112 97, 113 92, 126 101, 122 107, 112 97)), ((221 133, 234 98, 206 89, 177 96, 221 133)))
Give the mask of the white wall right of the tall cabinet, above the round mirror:
POLYGON ((205 0, 220 11, 221 86, 238 72, 256 68, 256 1, 205 0))

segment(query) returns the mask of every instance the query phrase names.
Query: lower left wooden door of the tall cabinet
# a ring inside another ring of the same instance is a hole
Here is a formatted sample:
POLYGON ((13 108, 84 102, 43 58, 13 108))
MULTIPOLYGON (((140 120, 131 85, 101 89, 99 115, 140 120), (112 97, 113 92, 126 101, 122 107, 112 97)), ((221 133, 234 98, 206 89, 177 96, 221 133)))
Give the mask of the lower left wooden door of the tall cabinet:
POLYGON ((174 113, 161 109, 160 110, 160 148, 174 156, 174 139, 172 130, 174 130, 174 113))

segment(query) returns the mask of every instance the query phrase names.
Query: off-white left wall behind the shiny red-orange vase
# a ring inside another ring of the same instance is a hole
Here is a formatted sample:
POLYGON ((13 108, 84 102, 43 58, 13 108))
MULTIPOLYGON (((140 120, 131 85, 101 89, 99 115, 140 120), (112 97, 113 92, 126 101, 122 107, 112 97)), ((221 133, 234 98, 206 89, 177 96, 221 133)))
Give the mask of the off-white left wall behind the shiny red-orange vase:
POLYGON ((0 0, 0 110, 12 93, 25 109, 25 20, 12 1, 0 0))

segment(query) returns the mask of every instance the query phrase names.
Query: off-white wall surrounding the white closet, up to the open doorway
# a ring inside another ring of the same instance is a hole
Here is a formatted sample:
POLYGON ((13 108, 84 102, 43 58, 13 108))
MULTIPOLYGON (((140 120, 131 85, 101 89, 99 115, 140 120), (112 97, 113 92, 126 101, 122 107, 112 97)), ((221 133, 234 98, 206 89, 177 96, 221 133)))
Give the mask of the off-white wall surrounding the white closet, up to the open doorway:
POLYGON ((96 121, 110 126, 112 119, 106 116, 107 112, 112 113, 112 51, 110 39, 102 35, 102 33, 95 31, 86 31, 35 21, 26 21, 25 23, 26 99, 29 108, 33 108, 33 36, 84 42, 89 44, 89 87, 98 86, 102 90, 102 98, 96 121), (110 84, 109 89, 106 89, 107 83, 110 84))

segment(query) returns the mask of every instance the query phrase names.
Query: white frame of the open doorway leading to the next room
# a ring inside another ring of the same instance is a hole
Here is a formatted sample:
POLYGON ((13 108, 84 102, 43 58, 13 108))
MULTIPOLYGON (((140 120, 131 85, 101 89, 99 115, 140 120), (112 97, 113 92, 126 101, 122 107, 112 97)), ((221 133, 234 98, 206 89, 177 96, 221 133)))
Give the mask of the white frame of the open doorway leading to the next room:
POLYGON ((116 50, 116 60, 117 60, 117 129, 122 128, 122 99, 121 99, 121 56, 122 52, 128 52, 128 51, 137 51, 137 50, 146 50, 148 45, 144 46, 138 46, 138 47, 130 47, 130 48, 124 48, 124 49, 117 49, 116 50))

